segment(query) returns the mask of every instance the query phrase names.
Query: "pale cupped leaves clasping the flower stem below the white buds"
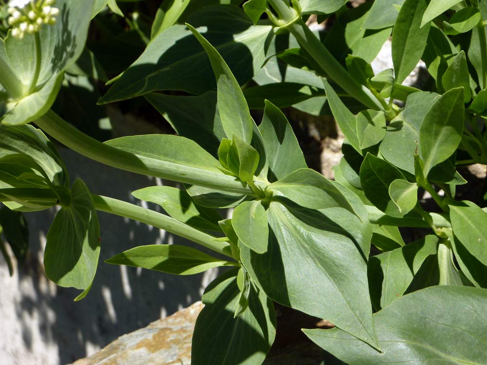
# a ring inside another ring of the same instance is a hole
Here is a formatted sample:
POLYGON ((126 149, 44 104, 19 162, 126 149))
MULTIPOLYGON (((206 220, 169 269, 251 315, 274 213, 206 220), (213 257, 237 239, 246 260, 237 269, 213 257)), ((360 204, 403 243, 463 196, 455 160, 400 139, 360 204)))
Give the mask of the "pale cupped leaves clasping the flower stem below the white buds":
POLYGON ((28 123, 49 110, 61 86, 63 71, 75 62, 85 47, 93 4, 94 0, 56 1, 60 10, 56 23, 43 25, 39 31, 40 65, 36 62, 34 35, 18 39, 9 34, 5 39, 5 52, 0 52, 0 57, 7 55, 5 62, 13 66, 23 92, 21 97, 4 99, 6 106, 0 112, 1 123, 28 123), (37 83, 29 90, 37 66, 40 67, 37 83))

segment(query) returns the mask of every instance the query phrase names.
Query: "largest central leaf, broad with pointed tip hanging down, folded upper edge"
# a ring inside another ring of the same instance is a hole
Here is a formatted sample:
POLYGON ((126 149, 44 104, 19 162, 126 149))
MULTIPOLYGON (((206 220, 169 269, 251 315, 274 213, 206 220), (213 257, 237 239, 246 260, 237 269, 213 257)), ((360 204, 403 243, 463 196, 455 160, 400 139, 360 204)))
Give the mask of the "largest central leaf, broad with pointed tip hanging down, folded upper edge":
POLYGON ((360 243, 370 242, 370 228, 347 209, 329 207, 320 198, 307 197, 310 205, 322 206, 317 210, 274 195, 267 210, 267 252, 258 255, 241 246, 242 262, 273 300, 326 318, 376 347, 360 243))

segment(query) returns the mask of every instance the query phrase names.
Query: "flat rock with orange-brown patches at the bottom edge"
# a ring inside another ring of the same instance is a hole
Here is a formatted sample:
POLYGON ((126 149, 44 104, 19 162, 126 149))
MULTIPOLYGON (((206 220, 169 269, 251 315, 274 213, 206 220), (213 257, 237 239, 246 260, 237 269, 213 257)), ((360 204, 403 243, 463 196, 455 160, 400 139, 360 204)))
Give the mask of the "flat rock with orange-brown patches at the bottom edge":
POLYGON ((203 303, 123 335, 93 356, 72 365, 189 365, 191 339, 203 303))

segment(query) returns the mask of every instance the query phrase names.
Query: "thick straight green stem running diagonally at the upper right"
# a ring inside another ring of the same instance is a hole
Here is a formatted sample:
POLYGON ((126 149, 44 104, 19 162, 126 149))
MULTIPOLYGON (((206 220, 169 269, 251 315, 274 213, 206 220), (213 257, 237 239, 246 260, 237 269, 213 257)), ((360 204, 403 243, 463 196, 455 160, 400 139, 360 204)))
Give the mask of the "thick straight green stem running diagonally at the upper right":
POLYGON ((298 40, 301 47, 318 63, 327 77, 334 80, 343 90, 367 108, 383 110, 369 89, 358 84, 335 57, 326 49, 321 41, 313 34, 301 18, 286 25, 291 34, 298 40))

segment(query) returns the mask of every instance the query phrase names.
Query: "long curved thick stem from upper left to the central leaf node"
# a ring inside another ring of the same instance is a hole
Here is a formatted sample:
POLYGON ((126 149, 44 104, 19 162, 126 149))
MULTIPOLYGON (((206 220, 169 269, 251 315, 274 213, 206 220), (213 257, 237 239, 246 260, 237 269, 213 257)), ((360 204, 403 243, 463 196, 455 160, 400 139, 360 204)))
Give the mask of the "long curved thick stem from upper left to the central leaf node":
POLYGON ((179 183, 254 195, 248 186, 222 173, 191 166, 183 168, 177 163, 141 156, 105 145, 80 132, 52 110, 38 118, 36 124, 65 146, 102 164, 179 183))

